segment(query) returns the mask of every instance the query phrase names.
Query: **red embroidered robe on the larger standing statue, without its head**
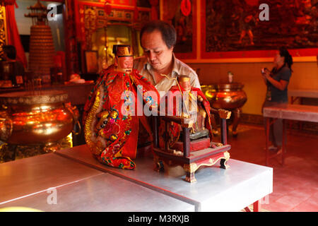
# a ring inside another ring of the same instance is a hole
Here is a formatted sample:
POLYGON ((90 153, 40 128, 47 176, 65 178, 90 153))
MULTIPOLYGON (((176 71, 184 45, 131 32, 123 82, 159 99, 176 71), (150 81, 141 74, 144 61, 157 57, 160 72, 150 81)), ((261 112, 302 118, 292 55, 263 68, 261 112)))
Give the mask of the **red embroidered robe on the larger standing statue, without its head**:
MULTIPOLYGON (((125 76, 124 73, 115 71, 114 67, 110 66, 105 71, 102 71, 96 84, 88 97, 83 113, 83 123, 89 126, 89 129, 85 130, 88 147, 93 155, 105 165, 121 169, 134 169, 136 165, 131 159, 136 158, 139 121, 149 134, 151 133, 151 128, 145 115, 140 117, 135 117, 135 114, 124 115, 122 110, 128 100, 124 100, 121 96, 126 91, 133 95, 131 98, 137 97, 137 92, 143 94, 147 91, 153 91, 156 96, 153 95, 152 100, 155 105, 158 105, 155 100, 158 100, 159 93, 136 69, 131 72, 131 76, 125 76), (134 78, 134 80, 131 80, 131 78, 134 78), (103 90, 101 98, 104 101, 98 98, 100 89, 103 90), (102 117, 102 114, 105 117, 102 117), (93 127, 91 125, 95 125, 96 122, 94 120, 96 120, 95 117, 97 115, 100 115, 100 121, 93 127), (105 140, 105 145, 101 144, 102 148, 99 148, 101 147, 100 141, 98 141, 100 138, 105 140), (98 149, 102 149, 102 152, 99 152, 98 149)), ((126 97, 130 98, 130 94, 127 94, 126 97)), ((143 95, 143 101, 148 102, 150 97, 152 98, 152 96, 143 95)), ((155 105, 151 104, 151 107, 155 105)), ((135 109, 138 111, 137 108, 135 109)))

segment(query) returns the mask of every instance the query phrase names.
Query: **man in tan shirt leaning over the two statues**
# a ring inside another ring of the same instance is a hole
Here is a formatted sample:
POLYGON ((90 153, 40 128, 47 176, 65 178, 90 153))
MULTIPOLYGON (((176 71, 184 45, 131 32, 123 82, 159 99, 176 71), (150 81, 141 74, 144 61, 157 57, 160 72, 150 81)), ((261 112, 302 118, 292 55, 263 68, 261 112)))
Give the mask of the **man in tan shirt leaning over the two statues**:
POLYGON ((134 60, 134 69, 155 85, 159 92, 165 93, 177 85, 173 78, 180 75, 189 76, 192 87, 201 88, 196 72, 173 53, 177 35, 172 25, 161 20, 151 21, 143 26, 140 37, 144 56, 134 60))

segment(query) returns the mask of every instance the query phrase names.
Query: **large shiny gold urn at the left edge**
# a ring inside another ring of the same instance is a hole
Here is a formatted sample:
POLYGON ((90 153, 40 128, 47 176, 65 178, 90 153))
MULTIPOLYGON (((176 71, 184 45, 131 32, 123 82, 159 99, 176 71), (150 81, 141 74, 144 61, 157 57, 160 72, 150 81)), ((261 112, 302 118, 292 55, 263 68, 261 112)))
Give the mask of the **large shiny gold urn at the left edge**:
POLYGON ((66 99, 67 93, 59 90, 0 95, 0 140, 37 145, 65 138, 78 122, 78 110, 66 99))

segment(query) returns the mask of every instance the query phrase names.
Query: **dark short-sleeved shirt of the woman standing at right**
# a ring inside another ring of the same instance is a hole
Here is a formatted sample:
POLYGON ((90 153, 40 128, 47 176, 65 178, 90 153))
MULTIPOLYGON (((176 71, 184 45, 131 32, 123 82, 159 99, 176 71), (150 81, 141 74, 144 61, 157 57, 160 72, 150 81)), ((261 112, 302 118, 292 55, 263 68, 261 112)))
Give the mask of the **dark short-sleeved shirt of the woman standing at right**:
MULTIPOLYGON (((291 76, 291 70, 288 66, 283 66, 278 71, 273 71, 273 79, 276 81, 287 81, 289 83, 291 76)), ((288 85, 285 90, 279 90, 271 83, 268 83, 269 89, 271 90, 271 102, 288 102, 288 85)))

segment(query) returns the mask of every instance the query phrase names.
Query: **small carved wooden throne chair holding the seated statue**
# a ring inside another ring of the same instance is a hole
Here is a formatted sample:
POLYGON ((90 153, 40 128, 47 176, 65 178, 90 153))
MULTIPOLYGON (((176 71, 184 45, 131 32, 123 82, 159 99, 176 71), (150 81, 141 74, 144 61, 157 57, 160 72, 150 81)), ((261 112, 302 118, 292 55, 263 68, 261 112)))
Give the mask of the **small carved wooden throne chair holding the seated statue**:
POLYGON ((193 183, 196 182, 194 174, 199 167, 211 167, 220 160, 220 167, 227 169, 228 165, 226 162, 230 159, 228 150, 230 150, 231 145, 227 142, 226 119, 230 118, 231 112, 224 109, 211 109, 211 115, 212 114, 218 115, 220 118, 221 143, 211 142, 204 131, 201 131, 199 135, 191 134, 192 125, 185 123, 182 117, 153 117, 153 155, 155 170, 163 172, 165 170, 163 163, 167 166, 180 165, 186 172, 185 181, 193 183), (169 126, 173 122, 181 126, 182 136, 180 136, 179 141, 176 141, 171 147, 170 144, 173 137, 169 132, 169 126), (164 124, 164 126, 162 124, 164 124), (163 127, 163 132, 161 131, 161 133, 159 132, 160 126, 163 127))

